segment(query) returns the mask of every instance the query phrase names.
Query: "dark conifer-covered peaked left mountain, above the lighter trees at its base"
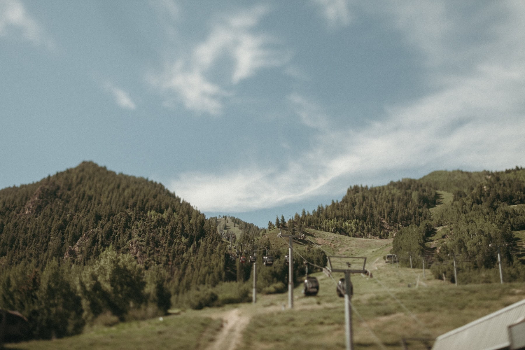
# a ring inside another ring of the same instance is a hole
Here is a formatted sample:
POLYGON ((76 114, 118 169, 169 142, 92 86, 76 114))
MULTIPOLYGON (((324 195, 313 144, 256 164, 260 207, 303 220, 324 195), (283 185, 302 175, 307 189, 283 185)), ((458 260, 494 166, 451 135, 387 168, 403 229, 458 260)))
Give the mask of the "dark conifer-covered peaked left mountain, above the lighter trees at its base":
POLYGON ((0 259, 8 264, 64 256, 85 264, 112 245, 146 267, 177 265, 205 236, 218 239, 215 225, 163 185, 92 162, 0 190, 0 259))

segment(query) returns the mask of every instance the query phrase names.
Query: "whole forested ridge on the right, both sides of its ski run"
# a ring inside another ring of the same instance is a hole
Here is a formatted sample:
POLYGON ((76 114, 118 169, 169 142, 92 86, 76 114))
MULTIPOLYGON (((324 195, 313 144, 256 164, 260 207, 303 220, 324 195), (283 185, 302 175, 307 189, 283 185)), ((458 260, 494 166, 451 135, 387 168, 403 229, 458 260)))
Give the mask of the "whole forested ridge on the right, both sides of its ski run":
MULTIPOLYGON (((506 280, 525 280, 525 169, 499 172, 436 171, 421 179, 384 186, 350 187, 340 201, 304 209, 268 228, 312 228, 351 237, 393 237, 400 261, 454 281, 453 264, 468 273, 462 282, 493 281, 500 251, 506 280), (448 196, 442 203, 442 196, 448 196), (439 204, 439 205, 438 205, 439 204), (433 209, 432 212, 430 209, 433 209), (516 237, 515 233, 521 235, 516 237), (410 262, 412 261, 412 262, 410 262)), ((499 278, 498 278, 499 279, 499 278)))

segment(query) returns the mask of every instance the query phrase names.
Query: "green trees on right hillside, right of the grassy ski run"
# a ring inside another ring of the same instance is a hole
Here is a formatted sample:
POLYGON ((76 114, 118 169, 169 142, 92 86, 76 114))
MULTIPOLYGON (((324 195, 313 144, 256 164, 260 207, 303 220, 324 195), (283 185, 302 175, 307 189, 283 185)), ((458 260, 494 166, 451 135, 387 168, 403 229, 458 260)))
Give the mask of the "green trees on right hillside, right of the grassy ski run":
MULTIPOLYGON (((397 232, 392 252, 402 258, 402 264, 407 266, 407 256, 412 256, 421 266, 424 257, 437 278, 454 282, 455 260, 468 271, 462 274, 464 282, 488 282, 497 278, 492 270, 497 268, 499 250, 505 280, 525 280, 521 248, 513 235, 525 229, 525 207, 515 206, 525 204, 525 169, 481 174, 482 180, 476 176, 474 182, 459 181, 447 188, 454 189, 453 201, 436 210, 431 220, 397 232), (437 228, 444 243, 429 247, 426 243, 437 228)), ((453 175, 465 177, 464 173, 453 175)))

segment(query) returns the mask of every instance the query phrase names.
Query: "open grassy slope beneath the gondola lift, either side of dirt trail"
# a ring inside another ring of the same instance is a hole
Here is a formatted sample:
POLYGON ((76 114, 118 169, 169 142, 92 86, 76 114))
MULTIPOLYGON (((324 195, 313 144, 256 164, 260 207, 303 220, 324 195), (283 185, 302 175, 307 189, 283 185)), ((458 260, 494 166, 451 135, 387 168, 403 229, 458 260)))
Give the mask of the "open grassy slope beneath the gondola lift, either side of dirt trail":
MULTIPOLYGON (((525 237, 523 232, 520 234, 525 237)), ((350 238, 316 230, 307 230, 307 236, 330 254, 368 258, 366 267, 373 272, 374 278, 352 275, 352 302, 367 325, 354 311, 356 349, 380 348, 370 328, 387 348, 401 349, 403 337, 435 338, 525 298, 522 283, 456 287, 435 280, 429 271, 426 271, 426 279, 423 280, 421 269, 396 268, 385 264, 382 257, 391 249, 392 240, 350 238)), ((277 239, 275 230, 268 233, 268 238, 272 246, 281 242, 286 246, 285 241, 277 239)), ((243 349, 344 349, 344 301, 336 295, 334 284, 342 273, 334 274, 334 280, 319 272, 314 275, 320 282, 319 294, 304 297, 302 287, 297 287, 294 290, 293 310, 286 309, 287 294, 258 295, 255 305, 186 311, 165 317, 164 322, 150 320, 121 324, 63 340, 20 343, 8 348, 203 348, 219 330, 218 321, 212 321, 209 316, 239 307, 243 314, 251 316, 244 332, 243 349), (204 340, 199 340, 201 335, 204 335, 204 340)), ((409 348, 424 347, 421 342, 415 342, 409 348)))

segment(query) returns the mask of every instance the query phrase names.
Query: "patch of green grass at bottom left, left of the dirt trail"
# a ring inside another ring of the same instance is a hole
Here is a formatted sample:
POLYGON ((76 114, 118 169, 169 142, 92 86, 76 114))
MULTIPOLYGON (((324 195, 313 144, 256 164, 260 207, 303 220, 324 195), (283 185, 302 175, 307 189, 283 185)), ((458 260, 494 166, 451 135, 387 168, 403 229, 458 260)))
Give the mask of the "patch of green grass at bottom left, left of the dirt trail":
POLYGON ((163 321, 152 319, 97 327, 85 333, 53 341, 8 344, 6 349, 31 350, 129 350, 129 349, 199 349, 213 340, 220 320, 195 315, 172 315, 163 321))

